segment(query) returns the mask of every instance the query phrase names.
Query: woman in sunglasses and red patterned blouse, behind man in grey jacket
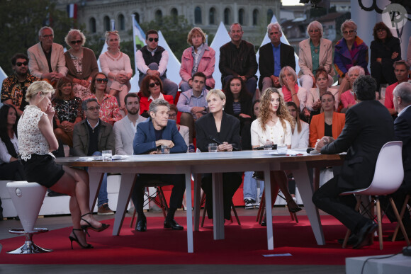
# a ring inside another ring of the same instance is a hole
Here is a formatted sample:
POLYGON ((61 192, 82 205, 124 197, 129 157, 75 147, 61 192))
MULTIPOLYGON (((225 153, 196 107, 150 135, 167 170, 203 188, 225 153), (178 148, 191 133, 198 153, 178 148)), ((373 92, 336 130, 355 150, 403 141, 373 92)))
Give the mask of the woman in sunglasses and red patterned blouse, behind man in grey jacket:
POLYGON ((98 105, 100 105, 100 119, 108 122, 110 125, 114 125, 115 122, 121 119, 121 114, 116 97, 105 92, 107 82, 106 75, 101 72, 94 75, 91 80, 91 96, 89 98, 95 98, 98 105))

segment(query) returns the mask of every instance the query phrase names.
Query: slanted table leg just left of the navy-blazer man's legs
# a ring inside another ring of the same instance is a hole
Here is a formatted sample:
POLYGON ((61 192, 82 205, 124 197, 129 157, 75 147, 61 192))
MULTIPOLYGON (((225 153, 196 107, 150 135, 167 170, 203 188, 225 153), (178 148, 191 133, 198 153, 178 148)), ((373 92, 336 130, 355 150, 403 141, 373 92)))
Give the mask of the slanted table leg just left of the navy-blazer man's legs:
POLYGON ((120 190, 118 191, 117 211, 114 217, 113 236, 120 234, 121 225, 123 224, 125 209, 127 208, 128 201, 130 200, 131 190, 134 187, 135 173, 123 173, 121 174, 120 190))

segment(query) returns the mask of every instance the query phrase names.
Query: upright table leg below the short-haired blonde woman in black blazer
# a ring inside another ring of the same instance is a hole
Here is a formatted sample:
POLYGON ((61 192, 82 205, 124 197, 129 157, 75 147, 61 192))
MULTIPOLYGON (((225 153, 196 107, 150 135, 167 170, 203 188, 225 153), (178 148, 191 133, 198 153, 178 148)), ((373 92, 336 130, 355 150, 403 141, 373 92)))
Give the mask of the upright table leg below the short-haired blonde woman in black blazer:
POLYGON ((213 222, 214 239, 224 239, 223 173, 213 173, 213 222))

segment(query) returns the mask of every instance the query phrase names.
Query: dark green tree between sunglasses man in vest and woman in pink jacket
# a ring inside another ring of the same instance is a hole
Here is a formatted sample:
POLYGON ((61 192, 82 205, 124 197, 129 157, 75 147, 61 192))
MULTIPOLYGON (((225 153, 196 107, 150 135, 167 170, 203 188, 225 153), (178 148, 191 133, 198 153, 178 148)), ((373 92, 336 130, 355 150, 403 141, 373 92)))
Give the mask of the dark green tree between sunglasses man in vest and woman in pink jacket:
POLYGON ((142 30, 161 30, 169 47, 173 49, 177 59, 181 59, 187 44, 187 34, 193 25, 190 25, 184 16, 164 16, 161 20, 140 24, 142 30))

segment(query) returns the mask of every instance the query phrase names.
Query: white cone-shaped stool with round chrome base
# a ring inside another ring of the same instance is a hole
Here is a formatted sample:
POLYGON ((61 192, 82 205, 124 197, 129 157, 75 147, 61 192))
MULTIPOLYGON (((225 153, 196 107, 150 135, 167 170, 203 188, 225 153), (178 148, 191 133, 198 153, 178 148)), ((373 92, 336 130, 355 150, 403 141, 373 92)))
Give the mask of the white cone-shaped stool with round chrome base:
POLYGON ((26 181, 7 183, 6 187, 9 190, 13 205, 16 207, 17 215, 20 217, 20 222, 23 225, 23 229, 10 229, 9 232, 26 236, 23 246, 7 253, 33 254, 51 252, 52 250, 43 249, 33 243, 33 234, 48 232, 48 229, 45 228, 34 228, 47 188, 38 183, 28 183, 26 181))

